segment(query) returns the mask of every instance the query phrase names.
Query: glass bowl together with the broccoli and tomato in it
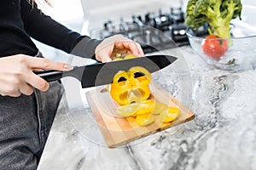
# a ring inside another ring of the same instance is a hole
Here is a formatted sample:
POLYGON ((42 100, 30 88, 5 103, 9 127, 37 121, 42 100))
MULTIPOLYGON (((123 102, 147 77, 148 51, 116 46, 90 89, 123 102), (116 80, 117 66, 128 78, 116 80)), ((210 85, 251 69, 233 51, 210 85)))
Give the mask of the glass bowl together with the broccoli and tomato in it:
POLYGON ((256 30, 248 32, 241 21, 252 17, 244 13, 249 10, 240 0, 188 0, 185 23, 191 48, 211 68, 255 69, 256 30))

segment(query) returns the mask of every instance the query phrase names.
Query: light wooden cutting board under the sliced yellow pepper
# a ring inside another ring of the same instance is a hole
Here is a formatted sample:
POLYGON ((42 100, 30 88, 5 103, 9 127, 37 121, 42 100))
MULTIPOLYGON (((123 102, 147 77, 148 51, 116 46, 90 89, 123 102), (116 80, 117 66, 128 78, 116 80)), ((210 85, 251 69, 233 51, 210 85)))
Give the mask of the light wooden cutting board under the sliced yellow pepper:
POLYGON ((90 109, 96 118, 102 136, 109 148, 127 144, 194 118, 195 114, 189 108, 168 94, 160 85, 151 83, 150 88, 150 99, 169 106, 179 107, 181 114, 174 122, 163 123, 160 122, 159 116, 156 116, 152 124, 141 127, 137 124, 135 117, 130 116, 125 118, 115 115, 115 109, 119 105, 111 98, 107 86, 97 87, 86 93, 90 109))

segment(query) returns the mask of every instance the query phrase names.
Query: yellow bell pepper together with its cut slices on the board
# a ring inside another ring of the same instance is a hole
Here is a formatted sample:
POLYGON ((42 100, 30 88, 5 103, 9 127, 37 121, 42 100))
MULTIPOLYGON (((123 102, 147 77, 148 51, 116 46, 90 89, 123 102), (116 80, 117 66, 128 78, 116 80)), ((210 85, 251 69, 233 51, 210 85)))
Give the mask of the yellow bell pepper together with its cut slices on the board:
POLYGON ((150 96, 149 83, 151 74, 143 67, 131 67, 129 71, 119 71, 113 77, 113 83, 108 85, 109 94, 120 105, 116 108, 119 116, 136 116, 140 126, 147 126, 160 115, 161 122, 172 122, 179 115, 177 107, 168 107, 148 99, 150 96), (136 77, 137 73, 142 77, 136 77))

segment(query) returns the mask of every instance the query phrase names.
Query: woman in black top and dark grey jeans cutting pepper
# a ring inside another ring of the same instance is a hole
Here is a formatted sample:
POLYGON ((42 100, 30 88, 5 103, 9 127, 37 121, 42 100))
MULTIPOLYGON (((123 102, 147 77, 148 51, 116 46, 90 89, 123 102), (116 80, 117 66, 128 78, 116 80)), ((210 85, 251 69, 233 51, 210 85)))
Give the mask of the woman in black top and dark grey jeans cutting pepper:
POLYGON ((36 169, 62 88, 34 72, 72 66, 44 59, 30 37, 102 62, 110 61, 113 51, 143 56, 143 50, 120 35, 104 40, 81 36, 44 15, 35 2, 1 0, 0 8, 0 169, 36 169))

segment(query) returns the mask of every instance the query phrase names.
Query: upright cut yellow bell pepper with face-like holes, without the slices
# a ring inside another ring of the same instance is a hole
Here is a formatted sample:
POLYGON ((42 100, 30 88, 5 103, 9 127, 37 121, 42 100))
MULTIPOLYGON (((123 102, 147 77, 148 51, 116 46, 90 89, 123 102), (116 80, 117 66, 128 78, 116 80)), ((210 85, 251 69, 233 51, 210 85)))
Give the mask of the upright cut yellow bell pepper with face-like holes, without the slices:
POLYGON ((129 105, 132 102, 141 103, 150 95, 149 83, 151 74, 143 67, 131 67, 129 71, 119 71, 113 77, 109 93, 119 105, 129 105), (137 73, 142 77, 136 77, 137 73))

